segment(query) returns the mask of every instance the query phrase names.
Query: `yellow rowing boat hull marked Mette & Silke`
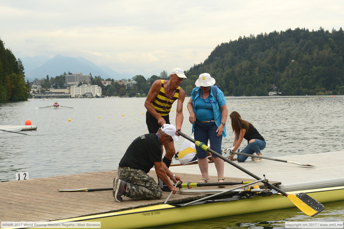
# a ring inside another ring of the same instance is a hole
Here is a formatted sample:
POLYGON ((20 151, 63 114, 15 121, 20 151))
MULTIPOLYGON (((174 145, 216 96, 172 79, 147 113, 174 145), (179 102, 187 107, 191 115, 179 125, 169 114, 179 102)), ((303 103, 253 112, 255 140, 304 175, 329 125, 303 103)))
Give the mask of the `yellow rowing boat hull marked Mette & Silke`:
MULTIPOLYGON (((307 193, 320 203, 344 199, 344 186, 288 192, 288 194, 300 192, 307 193)), ((217 200, 206 204, 195 203, 188 206, 159 204, 115 213, 50 221, 50 223, 65 221, 100 222, 102 229, 135 229, 291 207, 295 207, 295 205, 287 197, 281 194, 267 193, 267 195, 253 198, 217 200)))

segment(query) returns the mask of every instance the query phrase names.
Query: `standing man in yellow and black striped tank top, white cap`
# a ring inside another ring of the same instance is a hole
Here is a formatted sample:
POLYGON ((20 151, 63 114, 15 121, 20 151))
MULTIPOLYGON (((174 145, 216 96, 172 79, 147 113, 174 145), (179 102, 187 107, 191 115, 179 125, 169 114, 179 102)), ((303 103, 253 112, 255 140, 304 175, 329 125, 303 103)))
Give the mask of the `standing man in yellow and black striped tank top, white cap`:
MULTIPOLYGON (((144 106, 147 109, 146 124, 150 134, 157 133, 157 130, 163 124, 171 124, 169 113, 171 111, 172 104, 176 100, 178 100, 178 102, 175 126, 177 131, 181 130, 184 118, 183 102, 185 99, 185 92, 180 87, 180 84, 183 82, 184 78, 186 78, 184 71, 181 68, 175 68, 170 74, 170 80, 156 80, 152 84, 147 95, 147 99, 144 102, 144 106)), ((178 134, 176 133, 176 135, 178 134)), ((164 147, 166 153, 163 158, 163 162, 167 167, 170 167, 172 158, 175 154, 173 141, 165 144, 164 147)))

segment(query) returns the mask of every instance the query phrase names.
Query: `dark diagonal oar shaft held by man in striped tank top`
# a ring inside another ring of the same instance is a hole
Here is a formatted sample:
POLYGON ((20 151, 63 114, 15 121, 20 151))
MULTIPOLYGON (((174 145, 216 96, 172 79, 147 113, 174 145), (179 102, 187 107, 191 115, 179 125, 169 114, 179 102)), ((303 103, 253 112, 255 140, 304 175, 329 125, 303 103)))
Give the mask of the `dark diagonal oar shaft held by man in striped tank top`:
MULTIPOLYGON (((182 132, 180 132, 180 131, 177 131, 177 133, 178 133, 180 136, 182 136, 182 137, 188 139, 189 141, 194 142, 196 146, 201 145, 201 142, 200 142, 200 141, 196 141, 195 139, 193 139, 193 138, 191 138, 191 137, 185 135, 184 133, 182 133, 182 132)), ((246 170, 245 168, 243 168, 243 167, 237 165, 236 163, 234 163, 233 161, 229 160, 228 158, 226 158, 226 157, 222 156, 221 154, 215 152, 214 150, 210 149, 207 145, 202 144, 202 145, 201 145, 201 149, 203 149, 203 150, 205 150, 205 151, 208 151, 208 152, 211 152, 211 153, 215 154, 217 157, 219 157, 219 158, 221 158, 222 160, 224 160, 224 161, 228 162, 229 164, 233 165, 235 168, 237 168, 237 169, 243 171, 244 173, 246 173, 246 174, 252 176, 253 178, 255 178, 255 179, 257 179, 257 180, 261 180, 261 178, 260 178, 259 176, 255 175, 254 173, 251 173, 250 171, 248 171, 248 170, 246 170)), ((275 189, 276 191, 278 191, 279 193, 283 194, 284 196, 287 196, 287 195, 288 195, 286 192, 284 192, 284 191, 280 190, 279 188, 273 186, 273 185, 270 184, 269 182, 266 182, 266 184, 267 184, 269 187, 271 187, 271 188, 275 189)))

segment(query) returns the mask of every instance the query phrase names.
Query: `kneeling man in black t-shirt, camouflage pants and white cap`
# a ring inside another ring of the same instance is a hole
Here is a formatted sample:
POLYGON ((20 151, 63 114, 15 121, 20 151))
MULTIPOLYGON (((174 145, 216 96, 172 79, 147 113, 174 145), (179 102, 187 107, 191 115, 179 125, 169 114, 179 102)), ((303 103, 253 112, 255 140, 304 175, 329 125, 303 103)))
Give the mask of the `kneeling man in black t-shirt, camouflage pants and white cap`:
POLYGON ((153 166, 160 180, 162 180, 173 194, 177 188, 173 183, 182 181, 162 163, 161 146, 169 142, 178 141, 175 136, 176 128, 164 124, 156 134, 144 134, 136 138, 128 147, 118 165, 118 177, 114 179, 113 195, 117 202, 121 196, 135 199, 160 199, 162 191, 159 185, 147 173, 153 166))

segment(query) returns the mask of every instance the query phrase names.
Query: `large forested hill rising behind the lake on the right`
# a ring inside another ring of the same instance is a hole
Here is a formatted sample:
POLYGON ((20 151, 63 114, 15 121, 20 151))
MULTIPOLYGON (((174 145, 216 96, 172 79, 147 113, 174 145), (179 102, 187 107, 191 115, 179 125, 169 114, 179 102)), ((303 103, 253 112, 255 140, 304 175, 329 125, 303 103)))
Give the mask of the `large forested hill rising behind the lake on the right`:
POLYGON ((296 28, 222 43, 187 76, 207 72, 225 95, 268 95, 272 83, 286 95, 342 94, 343 58, 342 28, 296 28))

